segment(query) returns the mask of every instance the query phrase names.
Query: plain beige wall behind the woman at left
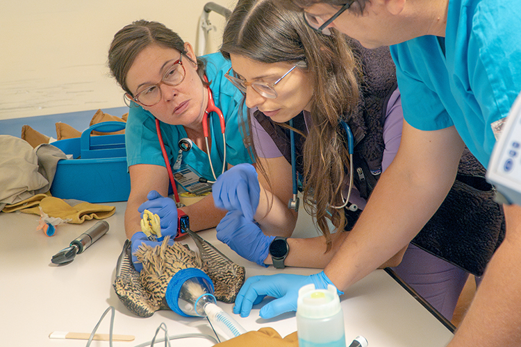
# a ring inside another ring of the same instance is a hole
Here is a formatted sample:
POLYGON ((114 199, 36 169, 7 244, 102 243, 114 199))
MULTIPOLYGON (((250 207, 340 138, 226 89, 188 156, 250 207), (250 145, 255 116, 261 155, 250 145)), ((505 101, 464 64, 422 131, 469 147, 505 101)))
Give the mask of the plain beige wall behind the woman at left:
MULTIPOLYGON (((123 106, 108 74, 113 35, 135 19, 163 22, 199 43, 206 0, 13 0, 0 10, 0 120, 123 106)), ((233 8, 235 0, 213 0, 233 8)), ((224 17, 209 15, 206 53, 220 42, 224 17)), ((202 39, 201 39, 202 40, 202 39)))

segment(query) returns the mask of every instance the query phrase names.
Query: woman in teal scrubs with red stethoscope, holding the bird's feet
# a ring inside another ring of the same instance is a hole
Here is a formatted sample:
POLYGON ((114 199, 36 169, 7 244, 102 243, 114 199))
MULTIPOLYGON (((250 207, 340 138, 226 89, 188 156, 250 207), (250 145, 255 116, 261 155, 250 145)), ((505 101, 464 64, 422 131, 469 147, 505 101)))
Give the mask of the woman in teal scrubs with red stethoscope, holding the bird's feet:
MULTIPOLYGON (((140 20, 122 28, 115 34, 110 46, 108 64, 111 73, 126 92, 126 99, 131 100, 125 130, 131 176, 125 230, 126 236, 131 238, 136 232, 141 232, 138 208, 147 202, 149 192, 155 190, 160 194, 150 193, 150 201, 168 194, 169 175, 158 140, 156 119, 160 121, 169 164, 176 164, 179 140, 188 138, 192 142, 192 148, 182 153, 183 168, 186 169, 185 165, 188 165, 197 176, 213 181, 215 177, 210 169, 208 155, 217 177, 224 164, 231 167, 242 162, 251 162, 243 141, 244 134, 238 126, 238 117, 245 114, 245 111, 242 110, 242 94, 224 78, 231 66, 230 62, 220 53, 196 57, 192 46, 183 42, 179 35, 163 24, 140 20), (208 115, 210 148, 207 149, 205 144, 202 124, 209 99, 205 76, 215 106, 224 115, 226 163, 223 162, 224 144, 220 119, 215 112, 208 115)), ((173 171, 174 176, 179 177, 176 169, 173 171)), ((159 213, 162 233, 175 236, 176 225, 174 228, 172 223, 176 224, 177 215, 172 214, 177 210, 174 201, 169 206, 169 210, 174 210, 173 212, 164 212, 165 215, 159 213), (165 226, 167 222, 172 223, 165 226)), ((142 210, 141 208, 140 211, 142 210)), ((214 207, 211 196, 180 210, 190 217, 192 230, 214 227, 224 217, 224 212, 214 207)), ((134 237, 133 241, 138 239, 140 238, 134 237)))

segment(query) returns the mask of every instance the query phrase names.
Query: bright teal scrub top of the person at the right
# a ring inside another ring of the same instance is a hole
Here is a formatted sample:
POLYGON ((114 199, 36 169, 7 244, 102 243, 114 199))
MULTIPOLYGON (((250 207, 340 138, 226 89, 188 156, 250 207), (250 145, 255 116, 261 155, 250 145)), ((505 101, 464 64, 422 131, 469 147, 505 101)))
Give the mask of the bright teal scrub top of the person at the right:
POLYGON ((491 124, 521 91, 521 1, 449 0, 444 37, 390 47, 404 118, 420 130, 455 126, 485 167, 491 124))

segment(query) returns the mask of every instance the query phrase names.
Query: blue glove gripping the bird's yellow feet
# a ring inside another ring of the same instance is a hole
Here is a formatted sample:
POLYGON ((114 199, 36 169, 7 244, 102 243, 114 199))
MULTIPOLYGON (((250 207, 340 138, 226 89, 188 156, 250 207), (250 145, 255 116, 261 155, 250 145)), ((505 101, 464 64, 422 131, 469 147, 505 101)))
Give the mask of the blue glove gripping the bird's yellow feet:
POLYGON ((155 190, 151 190, 147 195, 148 201, 145 201, 138 208, 138 212, 143 218, 143 211, 149 210, 153 214, 157 214, 160 218, 161 236, 158 240, 162 240, 166 235, 172 238, 177 236, 177 206, 172 198, 165 198, 155 190))

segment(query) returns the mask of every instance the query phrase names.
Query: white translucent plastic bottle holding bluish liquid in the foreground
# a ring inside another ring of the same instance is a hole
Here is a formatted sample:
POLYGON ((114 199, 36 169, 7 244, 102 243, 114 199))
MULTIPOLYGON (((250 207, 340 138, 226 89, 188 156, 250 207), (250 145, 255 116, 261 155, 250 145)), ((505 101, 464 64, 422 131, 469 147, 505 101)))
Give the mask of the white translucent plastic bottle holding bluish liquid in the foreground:
POLYGON ((336 288, 305 285, 297 301, 299 347, 345 347, 344 314, 336 288))

